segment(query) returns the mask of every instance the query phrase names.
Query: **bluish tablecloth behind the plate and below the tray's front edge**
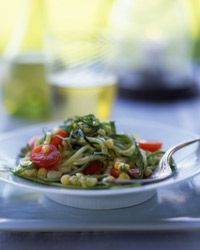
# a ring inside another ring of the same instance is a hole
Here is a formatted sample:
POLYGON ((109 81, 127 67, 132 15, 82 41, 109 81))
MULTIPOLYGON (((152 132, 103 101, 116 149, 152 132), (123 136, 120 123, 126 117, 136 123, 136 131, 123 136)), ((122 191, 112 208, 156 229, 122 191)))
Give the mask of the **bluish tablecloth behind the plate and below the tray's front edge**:
MULTIPOLYGON (((118 98, 113 119, 132 117, 200 133, 200 97, 168 103, 118 98)), ((0 105, 0 132, 30 123, 9 117, 0 105)), ((200 232, 0 232, 1 249, 199 249, 200 232)))

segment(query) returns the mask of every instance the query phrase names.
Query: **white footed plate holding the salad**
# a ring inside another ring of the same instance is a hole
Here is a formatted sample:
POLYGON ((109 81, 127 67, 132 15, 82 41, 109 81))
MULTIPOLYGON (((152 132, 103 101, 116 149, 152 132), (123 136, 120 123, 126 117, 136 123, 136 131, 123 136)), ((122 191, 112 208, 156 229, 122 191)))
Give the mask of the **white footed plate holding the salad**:
MULTIPOLYGON (((50 129, 58 124, 59 123, 39 124, 7 133, 0 138, 0 155, 4 155, 9 159, 15 159, 20 148, 26 145, 26 142, 32 136, 41 134, 42 129, 50 129)), ((132 133, 147 140, 154 139, 162 141, 165 149, 177 143, 197 137, 185 130, 152 123, 150 121, 134 121, 129 119, 118 122, 117 127, 118 131, 132 133)), ((178 183, 198 173, 198 164, 195 161, 195 155, 193 154, 194 151, 195 146, 184 151, 184 156, 191 154, 192 158, 186 158, 184 162, 178 164, 179 174, 176 178, 140 187, 112 190, 73 190, 37 184, 3 172, 1 173, 0 178, 13 185, 41 192, 54 201, 72 207, 87 209, 121 208, 142 203, 150 199, 158 188, 178 183), (189 168, 186 168, 188 163, 190 166, 189 168)), ((179 158, 181 157, 179 156, 179 158)), ((15 166, 13 165, 13 167, 15 166)))

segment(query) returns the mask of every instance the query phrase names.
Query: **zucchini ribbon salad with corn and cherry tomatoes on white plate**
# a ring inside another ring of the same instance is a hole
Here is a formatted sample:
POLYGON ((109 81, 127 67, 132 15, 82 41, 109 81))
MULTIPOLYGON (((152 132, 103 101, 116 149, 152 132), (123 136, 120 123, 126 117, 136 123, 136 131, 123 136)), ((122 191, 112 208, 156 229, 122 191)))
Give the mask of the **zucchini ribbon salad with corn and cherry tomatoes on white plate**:
POLYGON ((161 148, 161 142, 118 133, 113 121, 76 116, 31 138, 13 174, 66 188, 112 188, 115 180, 149 178, 164 154, 161 148))

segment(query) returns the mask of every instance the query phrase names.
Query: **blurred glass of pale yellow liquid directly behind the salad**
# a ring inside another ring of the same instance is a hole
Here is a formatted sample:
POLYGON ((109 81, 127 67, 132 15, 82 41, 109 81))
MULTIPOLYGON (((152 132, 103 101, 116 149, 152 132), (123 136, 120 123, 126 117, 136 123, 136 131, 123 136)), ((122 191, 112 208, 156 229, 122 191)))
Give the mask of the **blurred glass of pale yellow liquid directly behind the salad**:
POLYGON ((54 119, 111 116, 117 90, 107 36, 112 2, 47 1, 45 48, 54 119))

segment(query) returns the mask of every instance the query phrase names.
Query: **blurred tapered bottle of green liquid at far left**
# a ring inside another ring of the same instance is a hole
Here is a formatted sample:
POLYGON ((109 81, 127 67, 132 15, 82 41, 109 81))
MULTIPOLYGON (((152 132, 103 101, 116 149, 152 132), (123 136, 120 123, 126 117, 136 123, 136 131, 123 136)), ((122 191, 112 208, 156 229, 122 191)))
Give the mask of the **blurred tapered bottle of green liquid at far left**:
POLYGON ((43 0, 22 0, 16 29, 5 51, 3 102, 10 115, 47 120, 50 89, 43 48, 43 0))

